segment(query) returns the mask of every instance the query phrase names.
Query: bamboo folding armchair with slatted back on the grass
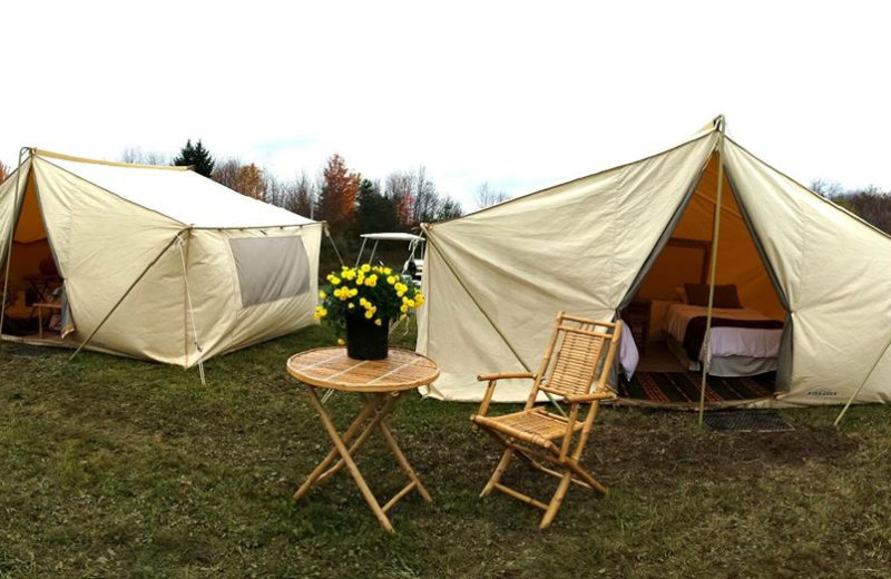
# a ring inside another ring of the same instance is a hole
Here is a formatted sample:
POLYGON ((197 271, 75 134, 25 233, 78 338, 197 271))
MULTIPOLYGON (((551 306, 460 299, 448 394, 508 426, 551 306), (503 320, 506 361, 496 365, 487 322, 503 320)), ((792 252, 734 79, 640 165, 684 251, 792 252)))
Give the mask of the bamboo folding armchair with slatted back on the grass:
POLYGON ((607 384, 607 379, 620 336, 620 321, 598 322, 559 312, 537 374, 510 372, 477 376, 480 382, 489 384, 479 412, 470 416, 470 420, 477 428, 506 446, 498 467, 480 497, 486 497, 497 489, 538 507, 545 511, 540 528, 547 529, 554 522, 570 483, 606 494, 606 487, 579 464, 579 459, 591 433, 600 401, 617 398, 615 389, 607 384), (607 352, 604 359, 605 344, 607 352), (598 371, 599 376, 596 376, 598 371), (526 406, 521 412, 488 416, 487 412, 498 381, 509 379, 533 381, 526 406), (561 396, 569 405, 569 412, 561 415, 548 412, 546 406, 536 406, 539 392, 561 396), (589 408, 582 419, 580 409, 585 405, 589 408), (500 482, 515 454, 533 468, 560 479, 549 503, 540 502, 500 482), (542 463, 550 463, 556 470, 542 463))

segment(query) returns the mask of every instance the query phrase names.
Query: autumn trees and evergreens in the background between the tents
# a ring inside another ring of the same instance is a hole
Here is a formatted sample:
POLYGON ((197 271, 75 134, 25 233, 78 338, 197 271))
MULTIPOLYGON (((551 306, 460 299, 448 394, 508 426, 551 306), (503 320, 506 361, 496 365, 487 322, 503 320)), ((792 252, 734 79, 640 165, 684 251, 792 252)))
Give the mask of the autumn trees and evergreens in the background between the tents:
POLYGON ((235 157, 215 158, 200 140, 193 144, 190 139, 173 158, 128 148, 120 160, 192 166, 196 173, 243 195, 325 220, 340 237, 412 230, 421 223, 451 219, 462 214, 461 204, 441 193, 423 166, 372 180, 350 169, 344 158, 334 154, 316 177, 304 170, 288 180, 254 163, 235 157))

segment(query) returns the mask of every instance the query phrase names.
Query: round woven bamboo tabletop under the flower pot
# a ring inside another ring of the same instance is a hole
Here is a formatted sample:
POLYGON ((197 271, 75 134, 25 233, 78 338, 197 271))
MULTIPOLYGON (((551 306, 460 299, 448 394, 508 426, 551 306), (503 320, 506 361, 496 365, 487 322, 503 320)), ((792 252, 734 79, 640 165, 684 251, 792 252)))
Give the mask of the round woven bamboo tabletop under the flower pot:
POLYGON ((346 392, 396 392, 430 384, 439 365, 408 350, 390 349, 383 360, 353 360, 345 347, 320 347, 294 354, 287 373, 311 386, 346 392))

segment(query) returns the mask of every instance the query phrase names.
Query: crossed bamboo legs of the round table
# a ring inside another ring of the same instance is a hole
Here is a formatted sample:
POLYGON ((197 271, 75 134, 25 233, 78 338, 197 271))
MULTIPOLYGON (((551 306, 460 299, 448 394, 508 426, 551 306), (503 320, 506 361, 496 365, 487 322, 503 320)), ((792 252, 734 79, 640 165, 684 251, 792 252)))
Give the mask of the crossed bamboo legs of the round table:
POLYGON ((390 432, 390 429, 384 422, 390 412, 393 411, 393 406, 395 405, 396 399, 400 394, 399 392, 389 394, 365 394, 364 408, 360 411, 359 415, 356 415, 343 435, 341 435, 337 432, 337 429, 334 426, 334 423, 331 421, 331 416, 325 411, 325 408, 322 405, 322 401, 319 399, 319 394, 315 392, 315 389, 313 386, 306 386, 306 391, 310 394, 310 402, 312 402, 313 406, 315 406, 315 410, 319 412, 319 416, 322 419, 322 425, 324 425, 327 435, 334 443, 334 448, 324 459, 322 459, 322 462, 319 463, 319 465, 306 478, 306 481, 294 493, 295 501, 300 500, 301 497, 306 494, 306 492, 309 492, 314 484, 324 481, 346 465, 346 469, 350 471, 353 480, 355 480, 356 487, 359 487, 359 491, 362 493, 362 497, 364 497, 365 502, 369 503, 369 507, 371 507, 371 510, 378 518, 378 521, 380 521, 381 527, 390 532, 393 532, 393 526, 390 523, 390 519, 386 518, 386 511, 393 508, 393 506, 409 492, 417 490, 424 501, 431 502, 432 499, 430 498, 430 493, 427 492, 427 489, 421 483, 421 479, 419 479, 412 470, 411 464, 409 464, 405 455, 396 444, 393 433, 390 432), (368 422, 361 433, 359 433, 362 424, 369 420, 370 422, 368 422), (369 489, 369 485, 365 482, 365 479, 362 477, 362 473, 359 472, 359 468, 353 461, 353 457, 360 451, 362 445, 374 430, 381 432, 386 441, 386 445, 390 446, 390 451, 396 458, 402 472, 409 478, 409 483, 403 487, 402 490, 395 493, 393 498, 390 499, 383 507, 378 503, 378 499, 375 499, 374 494, 372 494, 371 489, 369 489), (350 441, 353 440, 353 436, 355 436, 356 433, 359 433, 359 436, 347 449, 346 445, 350 444, 350 441), (337 460, 337 462, 332 467, 331 463, 334 462, 334 459, 336 459, 337 455, 340 455, 340 460, 337 460))

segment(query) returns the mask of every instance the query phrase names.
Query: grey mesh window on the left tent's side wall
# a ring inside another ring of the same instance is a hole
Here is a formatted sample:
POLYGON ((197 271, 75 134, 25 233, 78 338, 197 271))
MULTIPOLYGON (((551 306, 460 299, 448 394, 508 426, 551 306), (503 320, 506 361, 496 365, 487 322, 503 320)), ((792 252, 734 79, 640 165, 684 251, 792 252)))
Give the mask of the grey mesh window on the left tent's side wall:
POLYGON ((229 239, 242 307, 295 297, 310 291, 310 258, 303 239, 242 237, 229 239))

